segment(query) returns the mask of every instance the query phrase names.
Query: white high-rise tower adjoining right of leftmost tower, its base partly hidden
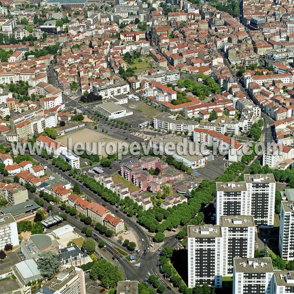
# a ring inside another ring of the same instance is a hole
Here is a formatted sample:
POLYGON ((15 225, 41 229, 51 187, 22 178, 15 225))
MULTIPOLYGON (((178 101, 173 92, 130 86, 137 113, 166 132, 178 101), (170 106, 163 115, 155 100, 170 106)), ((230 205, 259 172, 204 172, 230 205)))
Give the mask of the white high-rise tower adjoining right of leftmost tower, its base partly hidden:
POLYGON ((252 216, 221 217, 222 235, 222 275, 233 275, 235 257, 253 258, 255 243, 255 225, 252 216))

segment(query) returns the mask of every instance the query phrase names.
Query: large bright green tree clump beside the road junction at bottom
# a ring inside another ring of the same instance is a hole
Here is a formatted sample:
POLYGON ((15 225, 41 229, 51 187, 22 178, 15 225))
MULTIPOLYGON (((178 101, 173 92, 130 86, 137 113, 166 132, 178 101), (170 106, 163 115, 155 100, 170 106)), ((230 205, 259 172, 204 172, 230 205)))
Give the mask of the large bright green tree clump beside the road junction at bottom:
POLYGON ((118 281, 123 280, 123 274, 118 267, 113 266, 105 259, 95 261, 91 268, 91 277, 100 280, 101 286, 115 288, 118 281))

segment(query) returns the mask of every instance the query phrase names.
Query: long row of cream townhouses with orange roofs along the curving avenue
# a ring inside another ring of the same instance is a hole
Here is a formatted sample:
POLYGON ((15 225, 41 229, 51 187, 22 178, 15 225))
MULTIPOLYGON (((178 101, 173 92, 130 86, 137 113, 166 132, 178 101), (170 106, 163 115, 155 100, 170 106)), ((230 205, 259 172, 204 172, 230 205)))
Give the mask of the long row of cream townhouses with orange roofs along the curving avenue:
POLYGON ((71 194, 67 201, 69 205, 73 206, 78 212, 90 217, 93 221, 105 225, 116 234, 124 230, 123 220, 113 215, 111 211, 104 206, 96 202, 89 202, 74 194, 71 194))

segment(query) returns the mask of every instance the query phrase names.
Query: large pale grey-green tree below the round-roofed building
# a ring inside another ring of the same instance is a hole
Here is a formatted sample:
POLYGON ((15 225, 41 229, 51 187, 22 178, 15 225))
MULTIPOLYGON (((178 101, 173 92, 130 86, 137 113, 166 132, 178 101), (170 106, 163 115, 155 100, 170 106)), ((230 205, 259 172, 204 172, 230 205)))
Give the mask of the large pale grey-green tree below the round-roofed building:
POLYGON ((44 277, 51 277, 58 272, 59 261, 57 255, 52 251, 43 251, 39 253, 38 269, 44 277))

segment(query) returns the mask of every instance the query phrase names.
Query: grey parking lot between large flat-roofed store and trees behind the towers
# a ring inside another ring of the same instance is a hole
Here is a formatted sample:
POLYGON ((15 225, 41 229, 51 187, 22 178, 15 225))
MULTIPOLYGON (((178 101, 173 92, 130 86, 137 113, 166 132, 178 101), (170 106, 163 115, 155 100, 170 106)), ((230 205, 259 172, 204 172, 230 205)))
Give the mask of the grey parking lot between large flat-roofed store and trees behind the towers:
POLYGON ((201 179, 213 181, 218 176, 221 176, 227 168, 228 162, 223 160, 223 157, 215 155, 214 160, 208 162, 204 168, 195 170, 196 174, 201 179))

